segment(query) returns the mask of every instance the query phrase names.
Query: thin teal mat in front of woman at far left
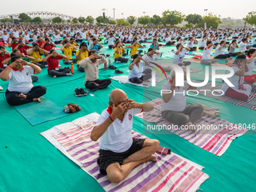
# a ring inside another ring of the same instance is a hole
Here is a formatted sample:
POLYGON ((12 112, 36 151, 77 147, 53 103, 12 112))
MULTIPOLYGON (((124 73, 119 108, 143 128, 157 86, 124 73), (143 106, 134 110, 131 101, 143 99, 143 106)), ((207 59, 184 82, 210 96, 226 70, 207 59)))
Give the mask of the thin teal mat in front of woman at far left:
POLYGON ((44 96, 40 97, 41 102, 29 102, 24 105, 13 106, 32 126, 55 120, 69 115, 62 111, 62 108, 51 102, 44 96))

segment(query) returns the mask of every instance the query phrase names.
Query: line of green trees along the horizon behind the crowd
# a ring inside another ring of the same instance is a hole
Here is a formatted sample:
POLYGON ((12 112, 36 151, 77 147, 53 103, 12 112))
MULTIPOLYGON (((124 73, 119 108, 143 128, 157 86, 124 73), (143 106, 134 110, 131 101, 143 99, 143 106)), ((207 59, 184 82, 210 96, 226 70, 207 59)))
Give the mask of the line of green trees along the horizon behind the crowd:
MULTIPOLYGON (((231 18, 230 19, 222 19, 220 18, 221 16, 215 15, 212 13, 209 13, 207 16, 202 17, 200 14, 188 14, 185 16, 179 11, 163 11, 162 17, 159 15, 154 14, 153 17, 149 17, 148 15, 142 16, 142 17, 134 17, 134 16, 129 16, 124 19, 117 19, 116 21, 114 20, 109 20, 107 17, 96 17, 96 24, 99 25, 106 25, 106 24, 112 24, 112 25, 117 25, 117 26, 133 26, 134 23, 136 23, 136 20, 138 20, 139 24, 142 24, 142 26, 176 26, 183 21, 187 21, 187 24, 184 25, 186 28, 192 28, 192 27, 203 27, 204 23, 207 23, 207 26, 212 26, 212 28, 217 29, 218 26, 221 23, 227 23, 227 26, 233 26, 234 24, 237 23, 237 20, 234 21, 231 18), (232 23, 233 22, 233 23, 232 23), (236 22, 236 23, 235 23, 236 22)), ((40 17, 35 17, 31 18, 26 14, 20 14, 19 15, 19 20, 21 23, 41 23, 42 20, 40 17)), ((48 20, 50 22, 50 20, 48 20)), ((10 18, 2 19, 1 22, 13 22, 10 18)), ((78 17, 74 18, 72 20, 62 20, 60 17, 55 17, 51 20, 52 23, 68 23, 68 24, 84 24, 88 23, 89 25, 94 23, 94 18, 91 16, 85 17, 78 17)), ((241 22, 241 20, 239 21, 241 22)), ((248 13, 248 15, 242 19, 242 22, 245 24, 250 24, 251 26, 256 26, 256 12, 251 11, 248 13)))

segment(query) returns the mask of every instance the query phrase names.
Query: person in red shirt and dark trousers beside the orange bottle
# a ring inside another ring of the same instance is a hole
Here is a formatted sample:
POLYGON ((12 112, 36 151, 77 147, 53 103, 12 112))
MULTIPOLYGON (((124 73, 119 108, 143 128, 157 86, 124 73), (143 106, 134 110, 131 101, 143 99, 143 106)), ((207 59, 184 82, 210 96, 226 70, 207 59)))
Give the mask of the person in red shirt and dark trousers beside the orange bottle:
POLYGON ((62 76, 72 76, 69 68, 59 69, 59 59, 67 59, 65 55, 57 53, 56 50, 50 50, 50 54, 45 56, 43 62, 47 61, 48 64, 48 74, 53 78, 62 76))

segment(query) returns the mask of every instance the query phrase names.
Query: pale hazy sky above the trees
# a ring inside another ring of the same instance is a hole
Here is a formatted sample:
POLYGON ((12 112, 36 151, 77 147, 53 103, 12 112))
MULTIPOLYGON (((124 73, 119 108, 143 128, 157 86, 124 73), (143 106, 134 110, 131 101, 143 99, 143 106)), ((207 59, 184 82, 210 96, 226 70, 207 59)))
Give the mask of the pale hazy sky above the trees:
POLYGON ((130 15, 141 17, 145 15, 152 17, 154 14, 162 16, 163 11, 180 11, 182 14, 200 14, 205 15, 205 9, 213 14, 221 15, 221 18, 231 17, 242 19, 248 12, 253 11, 255 6, 254 0, 247 0, 246 5, 241 8, 241 4, 226 0, 97 0, 97 1, 70 1, 70 0, 44 0, 43 2, 35 0, 12 0, 11 9, 2 9, 0 15, 18 14, 29 11, 50 11, 59 14, 66 14, 72 17, 98 17, 106 9, 105 15, 113 17, 115 8, 115 19, 126 18, 130 15), (70 5, 72 3, 72 5, 70 5), (31 6, 35 5, 35 6, 31 6), (122 15, 123 13, 123 15, 122 15))

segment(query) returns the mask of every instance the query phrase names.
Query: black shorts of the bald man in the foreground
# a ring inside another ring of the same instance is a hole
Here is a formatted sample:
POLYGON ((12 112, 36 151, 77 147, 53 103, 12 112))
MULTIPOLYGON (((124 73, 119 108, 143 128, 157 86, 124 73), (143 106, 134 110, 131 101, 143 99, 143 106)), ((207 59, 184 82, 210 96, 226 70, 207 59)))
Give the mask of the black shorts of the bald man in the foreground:
POLYGON ((108 150, 99 150, 99 158, 97 163, 99 164, 99 172, 103 175, 107 175, 105 169, 112 163, 119 163, 123 165, 123 160, 126 157, 129 157, 131 154, 134 154, 136 151, 142 149, 145 139, 133 139, 132 146, 123 153, 114 153, 113 151, 108 150))

